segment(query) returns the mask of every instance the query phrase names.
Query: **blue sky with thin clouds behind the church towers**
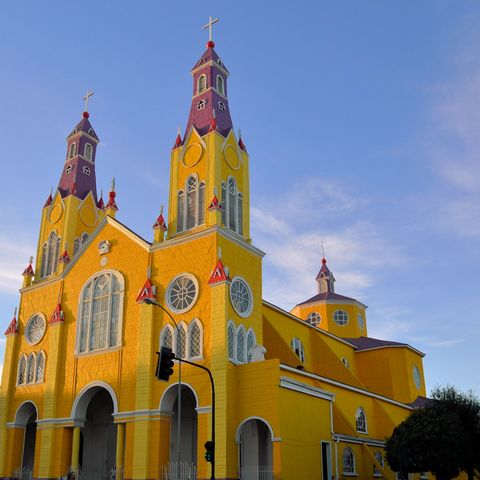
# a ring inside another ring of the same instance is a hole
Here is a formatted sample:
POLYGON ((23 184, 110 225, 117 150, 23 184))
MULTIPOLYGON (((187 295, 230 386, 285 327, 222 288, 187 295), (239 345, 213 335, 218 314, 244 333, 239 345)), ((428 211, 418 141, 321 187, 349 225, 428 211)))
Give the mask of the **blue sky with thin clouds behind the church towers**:
POLYGON ((87 88, 99 188, 115 176, 119 220, 152 238, 212 15, 250 153, 264 298, 289 309, 313 295, 323 241, 371 336, 425 352, 428 389, 480 393, 480 4, 204 5, 0 7, 1 331, 87 88))

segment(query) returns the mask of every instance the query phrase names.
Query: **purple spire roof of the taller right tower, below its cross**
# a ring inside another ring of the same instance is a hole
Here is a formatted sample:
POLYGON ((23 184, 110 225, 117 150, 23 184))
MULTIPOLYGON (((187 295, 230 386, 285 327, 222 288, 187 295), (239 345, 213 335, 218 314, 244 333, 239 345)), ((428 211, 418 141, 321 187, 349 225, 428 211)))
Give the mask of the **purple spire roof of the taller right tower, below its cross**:
POLYGON ((205 135, 216 123, 216 129, 224 137, 232 126, 227 98, 228 70, 214 50, 213 41, 192 69, 193 96, 185 134, 194 126, 205 135))

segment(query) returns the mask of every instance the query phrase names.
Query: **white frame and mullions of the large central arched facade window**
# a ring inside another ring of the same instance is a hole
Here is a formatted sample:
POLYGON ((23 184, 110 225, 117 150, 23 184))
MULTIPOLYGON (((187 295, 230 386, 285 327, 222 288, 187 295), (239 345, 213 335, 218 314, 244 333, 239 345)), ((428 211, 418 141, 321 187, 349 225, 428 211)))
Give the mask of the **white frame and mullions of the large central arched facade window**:
POLYGON ((100 270, 94 273, 92 276, 88 278, 88 280, 83 284, 82 290, 80 291, 80 296, 78 300, 78 316, 77 316, 77 329, 76 329, 76 338, 75 338, 75 355, 84 356, 84 355, 91 355, 91 354, 98 354, 102 352, 106 352, 109 350, 116 350, 122 347, 122 339, 123 339, 123 307, 124 307, 124 295, 125 295, 125 278, 118 270, 100 270), (110 326, 111 326, 111 313, 112 313, 112 298, 113 292, 110 289, 109 293, 109 306, 108 306, 108 322, 107 322, 107 331, 106 331, 106 346, 102 348, 95 348, 93 350, 90 349, 90 332, 91 332, 91 325, 92 325, 92 314, 90 314, 90 318, 88 320, 87 332, 86 332, 86 349, 85 351, 80 351, 80 341, 81 341, 81 334, 82 334, 82 319, 83 319, 83 296, 85 293, 85 289, 91 285, 92 292, 91 292, 91 301, 89 302, 89 308, 93 309, 93 302, 94 302, 94 282, 97 278, 101 277, 102 275, 113 275, 116 277, 120 284, 120 291, 116 293, 118 295, 118 319, 117 319, 117 344, 110 346, 110 326))

